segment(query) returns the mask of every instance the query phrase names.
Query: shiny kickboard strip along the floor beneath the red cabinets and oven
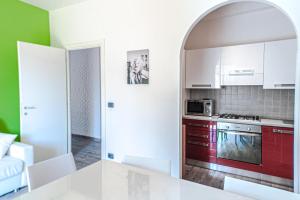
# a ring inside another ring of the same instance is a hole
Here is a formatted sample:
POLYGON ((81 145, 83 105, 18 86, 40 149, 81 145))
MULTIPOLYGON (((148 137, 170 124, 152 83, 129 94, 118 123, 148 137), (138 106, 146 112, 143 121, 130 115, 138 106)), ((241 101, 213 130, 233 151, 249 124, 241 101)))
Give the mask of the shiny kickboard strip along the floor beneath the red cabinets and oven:
POLYGON ((203 168, 211 169, 211 170, 215 170, 215 171, 249 177, 249 178, 258 179, 258 180, 275 183, 275 184, 279 184, 279 185, 284 185, 284 186, 288 186, 288 187, 293 187, 293 185, 294 185, 294 182, 291 179, 285 179, 285 178, 266 175, 266 174, 262 174, 262 173, 258 173, 258 172, 237 169, 234 167, 227 167, 227 166, 223 166, 223 165, 218 165, 218 164, 214 164, 214 163, 208 163, 208 162, 203 162, 203 161, 198 161, 198 160, 193 160, 193 159, 187 159, 186 163, 189 165, 194 165, 194 166, 203 167, 203 168))

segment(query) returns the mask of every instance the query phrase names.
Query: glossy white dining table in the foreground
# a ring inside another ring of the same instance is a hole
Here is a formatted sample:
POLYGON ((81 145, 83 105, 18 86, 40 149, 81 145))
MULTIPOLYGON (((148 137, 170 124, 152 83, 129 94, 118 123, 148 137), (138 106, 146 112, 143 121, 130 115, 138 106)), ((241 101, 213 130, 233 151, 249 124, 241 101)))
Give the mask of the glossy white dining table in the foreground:
POLYGON ((250 200, 158 172, 105 160, 16 199, 250 200))

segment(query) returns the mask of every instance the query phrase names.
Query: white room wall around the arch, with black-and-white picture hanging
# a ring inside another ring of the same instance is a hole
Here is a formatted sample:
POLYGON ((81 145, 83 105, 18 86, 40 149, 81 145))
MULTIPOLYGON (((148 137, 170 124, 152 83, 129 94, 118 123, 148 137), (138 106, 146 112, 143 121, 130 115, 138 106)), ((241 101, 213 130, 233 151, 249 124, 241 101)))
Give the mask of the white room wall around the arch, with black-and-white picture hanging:
MULTIPOLYGON (((54 46, 105 39, 106 150, 172 160, 179 176, 180 52, 192 24, 225 0, 90 0, 52 11, 54 46), (127 85, 126 52, 150 50, 150 84, 127 85)), ((272 0, 300 28, 300 4, 272 0)), ((300 73, 299 73, 300 75, 300 73)), ((298 94, 297 94, 298 95, 298 94)))

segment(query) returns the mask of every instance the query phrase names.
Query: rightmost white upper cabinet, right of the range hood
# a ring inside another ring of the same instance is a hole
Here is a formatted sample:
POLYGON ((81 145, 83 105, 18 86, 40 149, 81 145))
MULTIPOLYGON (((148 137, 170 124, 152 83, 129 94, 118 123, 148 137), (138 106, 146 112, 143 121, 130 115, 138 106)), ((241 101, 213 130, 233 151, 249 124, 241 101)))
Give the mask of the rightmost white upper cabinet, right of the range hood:
POLYGON ((265 44, 264 89, 295 88, 297 41, 265 44))

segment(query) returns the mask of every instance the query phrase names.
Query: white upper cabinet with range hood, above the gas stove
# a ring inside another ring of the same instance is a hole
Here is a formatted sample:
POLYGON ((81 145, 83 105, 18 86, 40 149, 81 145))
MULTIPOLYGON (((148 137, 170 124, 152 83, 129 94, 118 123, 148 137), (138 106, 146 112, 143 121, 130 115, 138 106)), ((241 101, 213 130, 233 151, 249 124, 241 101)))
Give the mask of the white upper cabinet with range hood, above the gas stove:
POLYGON ((221 85, 263 85, 264 43, 222 48, 221 85))

